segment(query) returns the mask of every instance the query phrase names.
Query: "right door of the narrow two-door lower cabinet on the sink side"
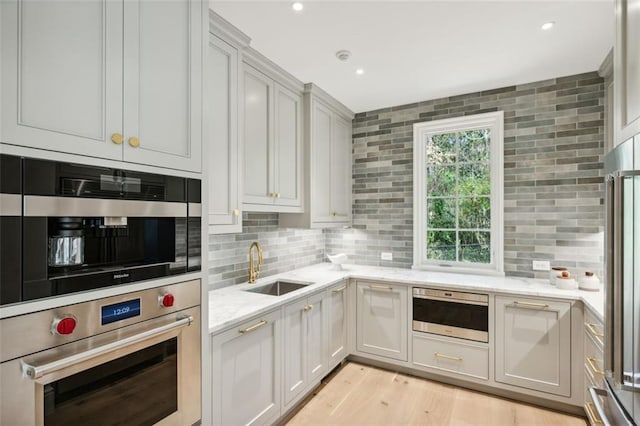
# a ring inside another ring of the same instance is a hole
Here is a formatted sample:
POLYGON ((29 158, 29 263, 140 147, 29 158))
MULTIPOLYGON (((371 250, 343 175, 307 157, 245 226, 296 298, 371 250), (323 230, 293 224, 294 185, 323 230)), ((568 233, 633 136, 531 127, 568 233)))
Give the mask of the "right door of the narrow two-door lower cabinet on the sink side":
POLYGON ((327 335, 325 328, 325 293, 311 296, 306 311, 307 344, 306 368, 307 383, 319 381, 327 371, 327 335))

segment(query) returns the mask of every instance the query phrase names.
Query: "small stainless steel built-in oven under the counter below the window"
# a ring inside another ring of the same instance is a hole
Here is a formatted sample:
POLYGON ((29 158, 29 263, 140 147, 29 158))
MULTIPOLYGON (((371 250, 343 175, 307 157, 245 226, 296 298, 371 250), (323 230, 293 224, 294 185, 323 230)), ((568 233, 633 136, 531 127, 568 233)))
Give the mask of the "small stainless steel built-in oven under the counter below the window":
POLYGON ((489 295, 413 288, 413 330, 489 341, 489 295))

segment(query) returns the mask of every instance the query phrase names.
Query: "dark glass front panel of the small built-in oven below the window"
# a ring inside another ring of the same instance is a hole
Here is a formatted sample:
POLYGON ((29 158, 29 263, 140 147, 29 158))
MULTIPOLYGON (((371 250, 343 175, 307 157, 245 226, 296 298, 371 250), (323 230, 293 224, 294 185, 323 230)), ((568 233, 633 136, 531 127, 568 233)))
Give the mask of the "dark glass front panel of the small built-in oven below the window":
POLYGON ((413 299, 413 319, 432 324, 489 331, 489 308, 468 303, 413 299))

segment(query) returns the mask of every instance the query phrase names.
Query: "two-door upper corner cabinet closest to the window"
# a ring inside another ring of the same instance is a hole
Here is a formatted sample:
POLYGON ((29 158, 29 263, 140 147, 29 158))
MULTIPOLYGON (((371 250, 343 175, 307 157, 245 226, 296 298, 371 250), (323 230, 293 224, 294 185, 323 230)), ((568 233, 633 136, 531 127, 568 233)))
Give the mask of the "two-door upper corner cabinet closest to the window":
POLYGON ((351 120, 353 113, 313 84, 305 85, 305 203, 303 214, 280 224, 330 228, 351 224, 351 120))

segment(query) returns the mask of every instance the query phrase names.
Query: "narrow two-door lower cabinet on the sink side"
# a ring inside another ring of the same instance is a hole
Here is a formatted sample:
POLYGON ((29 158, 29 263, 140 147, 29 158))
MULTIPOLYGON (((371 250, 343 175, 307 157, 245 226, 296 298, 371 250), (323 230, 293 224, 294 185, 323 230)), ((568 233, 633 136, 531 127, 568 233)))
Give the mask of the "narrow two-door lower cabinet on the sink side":
POLYGON ((284 307, 284 391, 288 408, 327 371, 325 292, 284 307))

